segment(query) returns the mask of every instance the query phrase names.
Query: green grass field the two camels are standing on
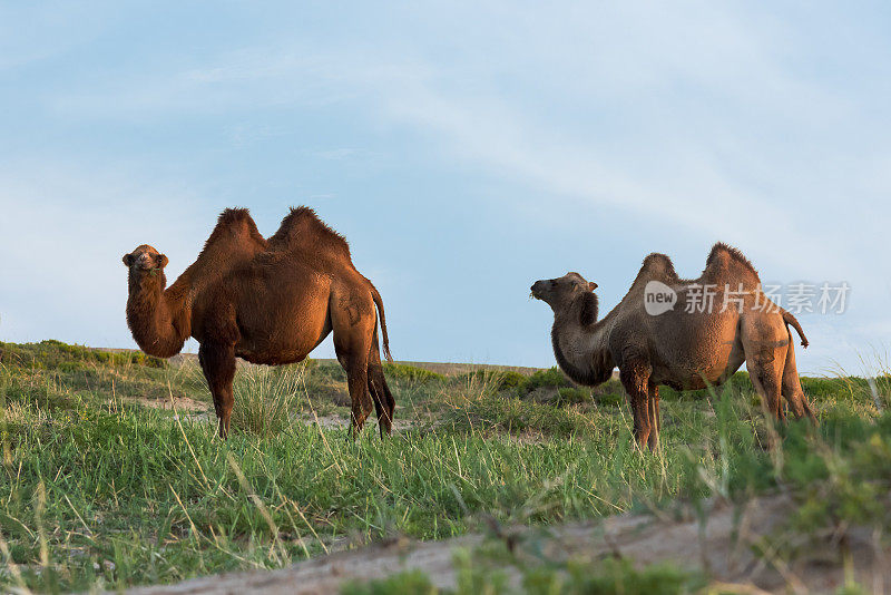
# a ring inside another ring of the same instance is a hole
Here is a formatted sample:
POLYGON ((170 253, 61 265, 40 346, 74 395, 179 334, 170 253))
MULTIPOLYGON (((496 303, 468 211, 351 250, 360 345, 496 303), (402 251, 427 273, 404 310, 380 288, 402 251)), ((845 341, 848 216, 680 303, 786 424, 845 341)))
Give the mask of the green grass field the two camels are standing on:
MULTIPOLYGON (((591 391, 556 369, 386 374, 396 430, 382 441, 371 420, 352 441, 335 364, 242 367, 222 442, 194 362, 0 343, 0 589, 173 583, 399 536, 442 539, 483 518, 554 524, 775 490, 800 503, 786 529, 804 537, 891 525, 887 375, 874 391, 858 378, 803 379, 819 428, 774 427, 744 373, 717 392, 665 390, 654 455, 633 446, 615 381, 591 391)), ((807 555, 806 542, 789 556, 807 555)), ((618 568, 625 593, 708 582, 618 568)), ((529 569, 527 589, 609 592, 604 572, 529 569)), ((468 576, 463 592, 499 592, 468 576)), ((347 591, 431 592, 418 574, 391 583, 347 591)))

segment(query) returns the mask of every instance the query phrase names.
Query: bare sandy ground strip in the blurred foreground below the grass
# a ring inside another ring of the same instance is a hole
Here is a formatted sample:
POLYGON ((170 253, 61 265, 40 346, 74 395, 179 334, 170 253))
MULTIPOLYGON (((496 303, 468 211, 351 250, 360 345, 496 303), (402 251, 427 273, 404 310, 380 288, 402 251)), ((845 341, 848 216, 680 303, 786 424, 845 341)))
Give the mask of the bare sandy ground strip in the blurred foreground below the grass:
MULTIPOLYGON (((821 537, 821 546, 803 562, 786 566, 767 548, 767 555, 755 557, 753 545, 765 536, 773 543, 776 527, 786 518, 791 504, 773 496, 752 500, 744 509, 718 504, 706 515, 703 525, 689 514, 681 518, 653 515, 621 515, 598 523, 568 524, 546 528, 499 530, 517 554, 519 564, 540 559, 596 560, 616 556, 635 560, 639 566, 673 562, 688 568, 705 569, 725 593, 831 593, 844 584, 845 565, 868 591, 882 593, 891 586, 889 548, 877 548, 870 535, 851 529, 844 538, 821 537), (848 555, 842 553, 846 552, 848 555), (726 589, 726 591, 724 591, 726 589)), ((423 570, 439 587, 453 587, 453 554, 472 548, 483 537, 471 535, 444 542, 394 542, 362 549, 342 552, 294 564, 278 570, 257 570, 209 576, 177 585, 136 588, 140 595, 161 593, 179 595, 222 595, 244 593, 337 593, 352 579, 381 578, 408 569, 423 570)), ((800 545, 800 544, 799 544, 800 545)), ((519 584, 515 566, 503 570, 519 584)))

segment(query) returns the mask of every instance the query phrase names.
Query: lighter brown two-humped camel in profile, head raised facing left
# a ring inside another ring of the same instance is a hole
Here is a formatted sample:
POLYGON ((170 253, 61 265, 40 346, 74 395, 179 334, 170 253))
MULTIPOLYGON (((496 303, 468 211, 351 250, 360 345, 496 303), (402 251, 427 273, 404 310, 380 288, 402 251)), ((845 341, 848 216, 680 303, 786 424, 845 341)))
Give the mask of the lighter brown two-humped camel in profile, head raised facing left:
POLYGON ((618 367, 642 448, 658 446, 659 384, 676 390, 718 386, 743 361, 777 419, 785 419, 782 396, 796 417, 816 421, 787 328, 795 328, 806 348, 801 325, 766 298, 757 272, 736 248, 715 244, 697 280, 678 277, 668 256, 650 254, 627 295, 600 321, 596 287, 567 273, 537 281, 532 296, 554 310, 554 353, 571 380, 596 386, 618 367))

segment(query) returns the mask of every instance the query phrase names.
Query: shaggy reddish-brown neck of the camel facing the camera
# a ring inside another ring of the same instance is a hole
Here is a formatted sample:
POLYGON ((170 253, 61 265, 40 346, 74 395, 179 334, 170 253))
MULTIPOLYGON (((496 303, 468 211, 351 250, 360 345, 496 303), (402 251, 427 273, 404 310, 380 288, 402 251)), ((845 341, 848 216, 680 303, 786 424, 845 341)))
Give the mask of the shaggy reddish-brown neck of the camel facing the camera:
POLYGON ((160 270, 130 273, 127 325, 139 348, 157 358, 179 353, 192 332, 187 292, 178 283, 164 291, 166 284, 160 270))

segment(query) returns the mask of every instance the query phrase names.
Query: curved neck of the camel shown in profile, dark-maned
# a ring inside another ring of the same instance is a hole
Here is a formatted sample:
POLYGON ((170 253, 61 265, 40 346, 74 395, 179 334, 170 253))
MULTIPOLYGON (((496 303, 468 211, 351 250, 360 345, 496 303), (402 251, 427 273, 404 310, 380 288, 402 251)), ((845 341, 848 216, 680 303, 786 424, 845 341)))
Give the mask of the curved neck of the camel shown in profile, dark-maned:
POLYGON ((588 387, 609 380, 615 368, 607 349, 607 321, 596 320, 597 302, 591 299, 594 295, 586 294, 555 313, 550 333, 560 369, 574 382, 588 387))

